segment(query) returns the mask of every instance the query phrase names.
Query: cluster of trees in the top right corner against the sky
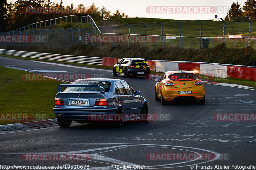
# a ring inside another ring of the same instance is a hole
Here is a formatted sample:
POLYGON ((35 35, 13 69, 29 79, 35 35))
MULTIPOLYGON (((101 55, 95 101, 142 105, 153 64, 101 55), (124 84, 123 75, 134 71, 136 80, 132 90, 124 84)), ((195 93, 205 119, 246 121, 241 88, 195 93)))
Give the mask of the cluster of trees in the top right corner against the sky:
POLYGON ((245 1, 243 8, 238 1, 237 3, 233 2, 225 17, 225 21, 248 21, 245 17, 256 21, 256 0, 245 1))

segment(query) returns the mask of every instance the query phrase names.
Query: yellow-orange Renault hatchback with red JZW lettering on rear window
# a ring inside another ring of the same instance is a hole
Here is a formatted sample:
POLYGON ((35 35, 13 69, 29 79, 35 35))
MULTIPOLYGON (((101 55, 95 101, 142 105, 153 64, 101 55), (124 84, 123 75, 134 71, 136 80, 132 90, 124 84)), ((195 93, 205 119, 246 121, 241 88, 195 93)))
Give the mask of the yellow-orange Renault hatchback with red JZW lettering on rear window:
POLYGON ((193 71, 167 71, 155 85, 155 99, 162 105, 168 101, 196 99, 205 103, 204 85, 193 71))

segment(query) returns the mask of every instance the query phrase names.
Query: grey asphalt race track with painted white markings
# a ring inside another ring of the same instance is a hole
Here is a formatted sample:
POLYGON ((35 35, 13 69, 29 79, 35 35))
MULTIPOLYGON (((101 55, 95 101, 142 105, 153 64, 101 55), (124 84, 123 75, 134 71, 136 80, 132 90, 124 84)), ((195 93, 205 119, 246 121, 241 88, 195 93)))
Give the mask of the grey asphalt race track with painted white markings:
MULTIPOLYGON (((6 57, 0 57, 0 66, 37 74, 90 74, 95 78, 116 78, 111 70, 6 57)), ((256 122, 216 121, 213 118, 219 113, 256 114, 256 90, 204 84, 205 104, 188 102, 162 106, 154 99, 155 81, 144 77, 117 78, 127 81, 134 90, 140 90, 141 96, 148 101, 149 114, 155 115, 152 120, 127 121, 121 128, 73 123, 69 128, 53 126, 3 133, 0 134, 0 165, 59 165, 67 169, 68 166, 71 169, 70 165, 86 165, 82 169, 127 168, 124 165, 130 165, 130 169, 241 169, 242 166, 256 166, 256 122), (201 153, 203 157, 189 159, 186 157, 188 153, 201 153), (38 156, 40 154, 46 155, 45 158, 38 156), (53 154, 57 155, 55 159, 49 156, 53 154), (67 154, 76 154, 75 159, 60 158, 67 154), (229 167, 221 168, 223 165, 229 167)))

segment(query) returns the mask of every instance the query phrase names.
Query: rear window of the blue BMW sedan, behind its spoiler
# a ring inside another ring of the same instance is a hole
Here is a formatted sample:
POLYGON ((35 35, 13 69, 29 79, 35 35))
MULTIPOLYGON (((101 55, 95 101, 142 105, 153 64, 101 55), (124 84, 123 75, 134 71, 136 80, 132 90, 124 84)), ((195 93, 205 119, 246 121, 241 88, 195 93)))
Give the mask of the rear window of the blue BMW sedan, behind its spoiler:
MULTIPOLYGON (((88 80, 88 81, 74 81, 71 84, 81 84, 81 85, 99 85, 105 89, 105 92, 109 92, 111 82, 110 81, 98 81, 98 80, 88 80)), ((90 88, 90 87, 68 87, 64 91, 100 91, 100 88, 90 88)))

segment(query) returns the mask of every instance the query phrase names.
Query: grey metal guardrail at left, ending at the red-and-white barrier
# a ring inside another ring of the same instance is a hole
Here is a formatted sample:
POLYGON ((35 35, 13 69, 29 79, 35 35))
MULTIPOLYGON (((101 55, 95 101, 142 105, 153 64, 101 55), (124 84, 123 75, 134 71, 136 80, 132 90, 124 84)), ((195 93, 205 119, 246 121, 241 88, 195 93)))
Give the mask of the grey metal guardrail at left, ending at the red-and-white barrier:
POLYGON ((44 59, 44 60, 55 60, 55 61, 65 61, 65 62, 73 62, 73 63, 94 64, 94 65, 102 65, 102 59, 103 59, 101 57, 86 57, 86 56, 77 56, 77 55, 37 53, 37 52, 5 50, 5 49, 0 49, 0 54, 35 58, 35 59, 44 59))

